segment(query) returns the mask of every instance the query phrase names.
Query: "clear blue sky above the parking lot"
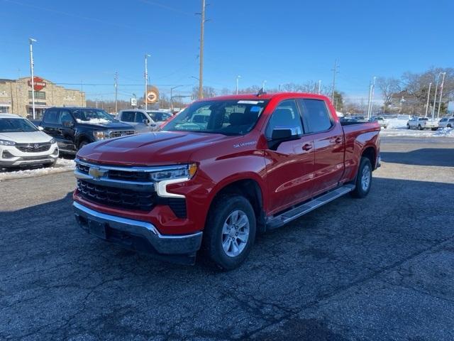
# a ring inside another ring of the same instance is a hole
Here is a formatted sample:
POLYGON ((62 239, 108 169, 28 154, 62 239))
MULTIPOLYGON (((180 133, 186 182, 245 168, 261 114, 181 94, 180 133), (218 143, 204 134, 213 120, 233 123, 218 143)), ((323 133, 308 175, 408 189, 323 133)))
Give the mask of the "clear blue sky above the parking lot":
MULTIPOLYGON (((143 56, 162 92, 199 74, 199 0, 0 0, 0 78, 35 73, 53 82, 85 83, 87 97, 143 92, 143 56), (6 28, 6 30, 5 30, 6 28)), ((207 0, 204 85, 221 89, 322 80, 347 97, 367 97, 370 77, 452 67, 452 0, 207 0)), ((79 85, 67 87, 80 88, 79 85)))

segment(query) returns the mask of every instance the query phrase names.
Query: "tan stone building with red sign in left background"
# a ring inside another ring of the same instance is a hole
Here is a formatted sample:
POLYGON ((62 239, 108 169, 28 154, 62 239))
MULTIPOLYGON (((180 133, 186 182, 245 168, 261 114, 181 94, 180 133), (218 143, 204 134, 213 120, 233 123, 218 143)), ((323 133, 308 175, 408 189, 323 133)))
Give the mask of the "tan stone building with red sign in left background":
MULTIPOLYGON (((85 93, 65 89, 49 80, 34 77, 35 114, 40 118, 48 107, 85 107, 85 93)), ((32 115, 31 77, 18 80, 0 79, 0 113, 8 112, 23 117, 32 115)))

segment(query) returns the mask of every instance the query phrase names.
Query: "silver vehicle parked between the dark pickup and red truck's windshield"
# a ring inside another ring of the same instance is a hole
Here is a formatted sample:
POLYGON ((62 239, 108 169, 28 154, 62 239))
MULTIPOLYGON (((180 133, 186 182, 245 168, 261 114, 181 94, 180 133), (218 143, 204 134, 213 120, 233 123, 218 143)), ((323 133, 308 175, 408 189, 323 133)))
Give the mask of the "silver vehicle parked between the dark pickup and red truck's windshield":
POLYGON ((171 117, 167 112, 143 109, 125 109, 118 112, 118 120, 131 124, 140 133, 157 131, 160 126, 171 117))

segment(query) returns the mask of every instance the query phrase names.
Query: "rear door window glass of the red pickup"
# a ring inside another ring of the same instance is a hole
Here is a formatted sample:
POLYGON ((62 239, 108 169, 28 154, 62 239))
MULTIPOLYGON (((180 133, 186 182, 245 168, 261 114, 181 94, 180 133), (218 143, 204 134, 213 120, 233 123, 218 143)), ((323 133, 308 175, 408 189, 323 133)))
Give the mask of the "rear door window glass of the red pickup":
POLYGON ((333 126, 325 101, 321 99, 299 99, 307 133, 327 131, 333 126))

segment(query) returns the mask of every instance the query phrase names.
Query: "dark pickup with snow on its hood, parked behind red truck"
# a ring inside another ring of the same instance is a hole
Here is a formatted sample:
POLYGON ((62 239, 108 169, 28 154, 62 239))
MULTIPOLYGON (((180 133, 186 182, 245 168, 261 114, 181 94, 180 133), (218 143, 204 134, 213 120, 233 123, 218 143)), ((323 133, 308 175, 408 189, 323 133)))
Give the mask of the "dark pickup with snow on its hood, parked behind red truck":
POLYGON ((62 153, 71 154, 94 141, 135 134, 133 126, 96 108, 52 107, 45 109, 42 121, 33 123, 57 141, 62 153))

